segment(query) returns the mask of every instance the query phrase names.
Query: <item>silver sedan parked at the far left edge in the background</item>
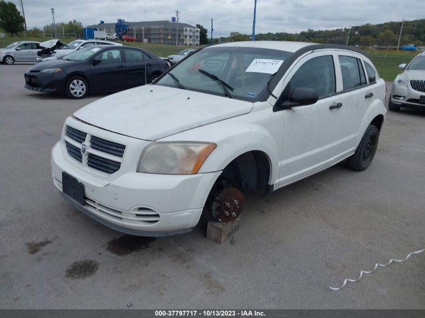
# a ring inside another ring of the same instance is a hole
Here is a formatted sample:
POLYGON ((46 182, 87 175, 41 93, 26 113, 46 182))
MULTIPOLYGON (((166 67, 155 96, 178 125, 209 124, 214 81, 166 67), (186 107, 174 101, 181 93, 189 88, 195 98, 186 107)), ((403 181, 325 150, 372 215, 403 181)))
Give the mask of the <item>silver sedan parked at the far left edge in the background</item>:
POLYGON ((0 62, 12 65, 15 62, 35 62, 40 42, 17 41, 0 49, 0 62))

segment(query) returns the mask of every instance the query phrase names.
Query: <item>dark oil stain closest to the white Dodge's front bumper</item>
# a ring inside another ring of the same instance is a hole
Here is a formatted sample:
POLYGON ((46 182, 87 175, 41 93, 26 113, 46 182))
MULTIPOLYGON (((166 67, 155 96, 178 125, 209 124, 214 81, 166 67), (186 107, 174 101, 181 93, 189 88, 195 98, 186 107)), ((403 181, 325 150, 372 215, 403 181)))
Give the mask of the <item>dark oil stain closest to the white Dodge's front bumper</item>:
POLYGON ((125 256, 133 252, 140 252, 151 248, 150 243, 154 241, 156 241, 156 238, 126 234, 120 236, 118 239, 109 241, 106 249, 118 256, 125 256))

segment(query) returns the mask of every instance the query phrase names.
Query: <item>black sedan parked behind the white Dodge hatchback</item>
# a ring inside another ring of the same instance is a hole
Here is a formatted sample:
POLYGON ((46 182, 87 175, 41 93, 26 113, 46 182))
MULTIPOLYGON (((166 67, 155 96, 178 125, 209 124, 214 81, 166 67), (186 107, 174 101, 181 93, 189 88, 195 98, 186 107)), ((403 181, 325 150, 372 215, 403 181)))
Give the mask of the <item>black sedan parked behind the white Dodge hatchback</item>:
POLYGON ((25 72, 25 88, 83 98, 89 92, 151 83, 169 67, 167 61, 143 49, 91 46, 30 67, 25 72))

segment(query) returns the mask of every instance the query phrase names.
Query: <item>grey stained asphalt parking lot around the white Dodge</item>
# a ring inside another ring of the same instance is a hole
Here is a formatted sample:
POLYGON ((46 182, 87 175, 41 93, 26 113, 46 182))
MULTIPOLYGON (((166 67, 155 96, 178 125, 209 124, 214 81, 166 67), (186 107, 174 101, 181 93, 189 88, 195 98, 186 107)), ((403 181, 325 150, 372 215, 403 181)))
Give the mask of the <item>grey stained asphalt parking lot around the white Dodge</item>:
POLYGON ((50 172, 65 118, 105 94, 27 90, 29 66, 0 65, 1 308, 425 308, 425 252, 329 289, 425 248, 425 111, 387 112, 364 172, 341 163, 246 194, 223 245, 202 222, 132 238, 66 203, 50 172))

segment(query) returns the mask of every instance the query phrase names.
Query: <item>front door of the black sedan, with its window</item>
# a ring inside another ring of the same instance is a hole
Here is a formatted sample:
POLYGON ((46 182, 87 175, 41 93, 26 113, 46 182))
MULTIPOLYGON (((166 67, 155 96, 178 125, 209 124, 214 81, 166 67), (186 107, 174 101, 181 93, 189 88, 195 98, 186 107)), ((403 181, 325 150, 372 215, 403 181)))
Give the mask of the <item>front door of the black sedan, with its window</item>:
MULTIPOLYGON (((96 50, 98 48, 94 48, 96 50)), ((90 64, 95 90, 120 90, 125 88, 125 63, 121 49, 103 50, 94 57, 99 64, 90 64)))

